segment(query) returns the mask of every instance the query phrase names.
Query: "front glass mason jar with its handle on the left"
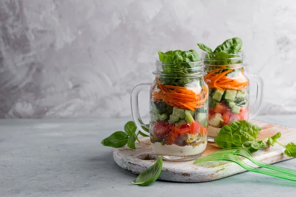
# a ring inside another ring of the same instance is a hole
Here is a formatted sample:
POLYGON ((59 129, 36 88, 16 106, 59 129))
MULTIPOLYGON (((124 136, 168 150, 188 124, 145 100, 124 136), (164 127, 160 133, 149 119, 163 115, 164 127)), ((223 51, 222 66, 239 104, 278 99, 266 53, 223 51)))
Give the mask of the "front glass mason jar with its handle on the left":
POLYGON ((155 65, 155 80, 139 84, 132 91, 134 122, 144 133, 147 132, 143 127, 149 129, 147 134, 155 155, 174 161, 198 158, 206 149, 208 130, 208 86, 203 79, 203 61, 156 61, 155 65), (138 106, 139 92, 148 89, 149 128, 143 123, 138 106))

